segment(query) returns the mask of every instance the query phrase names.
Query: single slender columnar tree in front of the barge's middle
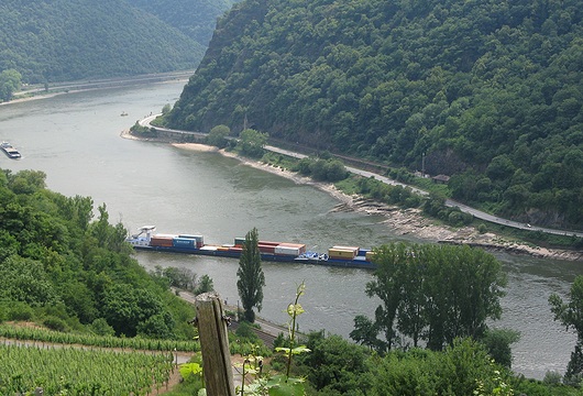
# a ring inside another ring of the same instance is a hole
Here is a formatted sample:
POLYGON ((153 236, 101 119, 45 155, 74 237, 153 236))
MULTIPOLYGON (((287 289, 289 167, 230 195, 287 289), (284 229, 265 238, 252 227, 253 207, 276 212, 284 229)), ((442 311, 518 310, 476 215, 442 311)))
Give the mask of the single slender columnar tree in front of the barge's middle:
POLYGON ((258 248, 257 229, 249 231, 243 243, 239 268, 237 270, 237 289, 243 306, 243 316, 250 322, 255 321, 253 308, 261 311, 263 304, 263 286, 265 286, 265 275, 261 267, 261 254, 258 248))

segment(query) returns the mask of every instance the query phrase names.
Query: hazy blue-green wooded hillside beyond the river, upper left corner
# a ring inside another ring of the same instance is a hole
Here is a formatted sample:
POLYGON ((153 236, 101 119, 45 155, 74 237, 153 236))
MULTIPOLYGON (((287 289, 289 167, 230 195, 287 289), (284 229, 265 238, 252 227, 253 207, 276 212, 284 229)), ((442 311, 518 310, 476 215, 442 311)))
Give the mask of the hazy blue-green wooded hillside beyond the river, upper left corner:
POLYGON ((4 0, 0 72, 24 82, 195 69, 205 47, 125 0, 4 0))

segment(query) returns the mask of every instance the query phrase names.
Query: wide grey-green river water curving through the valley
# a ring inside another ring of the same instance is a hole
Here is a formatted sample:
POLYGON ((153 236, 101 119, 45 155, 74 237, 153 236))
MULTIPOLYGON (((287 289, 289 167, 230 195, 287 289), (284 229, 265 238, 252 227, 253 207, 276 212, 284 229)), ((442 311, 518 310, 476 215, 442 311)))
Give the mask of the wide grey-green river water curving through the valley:
MULTIPOLYGON (((383 218, 331 212, 338 204, 309 186, 264 173, 215 153, 132 141, 120 132, 136 120, 173 105, 183 82, 62 95, 0 106, 0 140, 11 142, 21 161, 0 157, 0 167, 46 173, 48 188, 66 196, 90 196, 106 204, 112 222, 134 231, 155 224, 162 233, 199 233, 207 243, 232 243, 253 227, 260 239, 306 243, 326 251, 334 244, 371 248, 403 240, 383 218), (128 117, 121 117, 127 112, 128 117)), ((409 238, 409 241, 416 241, 409 238)), ((417 241, 418 242, 418 241, 417 241)), ((163 253, 136 253, 146 268, 185 266, 208 274, 221 298, 238 304, 238 261, 163 253)), ((513 345, 516 372, 542 378, 564 372, 575 336, 552 320, 548 297, 566 296, 581 263, 498 254, 508 274, 503 318, 493 327, 521 333, 513 345)), ((260 316, 285 323, 285 308, 296 287, 306 283, 300 300, 302 331, 326 329, 348 338, 356 315, 374 317, 377 300, 364 288, 364 270, 264 263, 266 277, 260 316)))

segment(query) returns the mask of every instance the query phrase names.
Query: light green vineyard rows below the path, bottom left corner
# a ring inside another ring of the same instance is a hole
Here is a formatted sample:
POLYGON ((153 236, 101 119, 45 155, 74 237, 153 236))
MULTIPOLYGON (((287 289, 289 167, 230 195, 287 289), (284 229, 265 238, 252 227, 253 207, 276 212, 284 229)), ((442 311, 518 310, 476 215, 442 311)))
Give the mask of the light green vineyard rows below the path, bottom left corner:
POLYGON ((0 344, 0 394, 145 395, 169 378, 172 355, 0 344), (131 381, 128 381, 131 378, 131 381))

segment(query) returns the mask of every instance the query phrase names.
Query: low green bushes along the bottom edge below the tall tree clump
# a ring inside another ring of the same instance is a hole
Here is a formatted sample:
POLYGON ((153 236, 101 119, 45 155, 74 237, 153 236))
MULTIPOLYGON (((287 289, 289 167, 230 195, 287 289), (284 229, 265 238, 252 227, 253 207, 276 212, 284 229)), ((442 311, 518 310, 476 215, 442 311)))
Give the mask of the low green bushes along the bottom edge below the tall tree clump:
POLYGON ((575 395, 572 388, 557 392, 539 383, 513 377, 492 361, 485 346, 471 339, 457 339, 443 351, 413 348, 381 356, 323 332, 307 336, 307 354, 295 361, 296 373, 306 377, 310 394, 318 395, 498 395, 512 396, 516 387, 528 395, 575 395))

